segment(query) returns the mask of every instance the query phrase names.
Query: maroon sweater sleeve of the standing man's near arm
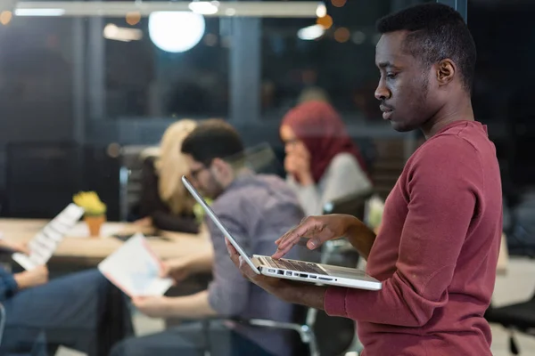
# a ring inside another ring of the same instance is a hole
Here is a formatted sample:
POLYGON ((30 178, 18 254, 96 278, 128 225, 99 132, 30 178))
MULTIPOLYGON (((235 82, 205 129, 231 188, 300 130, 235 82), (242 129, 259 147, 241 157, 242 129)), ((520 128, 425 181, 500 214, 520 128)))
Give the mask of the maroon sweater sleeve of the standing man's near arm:
POLYGON ((328 314, 420 327, 448 302, 457 258, 483 190, 482 169, 478 153, 457 136, 429 143, 408 167, 408 213, 396 271, 383 280, 380 291, 330 287, 325 294, 328 314))

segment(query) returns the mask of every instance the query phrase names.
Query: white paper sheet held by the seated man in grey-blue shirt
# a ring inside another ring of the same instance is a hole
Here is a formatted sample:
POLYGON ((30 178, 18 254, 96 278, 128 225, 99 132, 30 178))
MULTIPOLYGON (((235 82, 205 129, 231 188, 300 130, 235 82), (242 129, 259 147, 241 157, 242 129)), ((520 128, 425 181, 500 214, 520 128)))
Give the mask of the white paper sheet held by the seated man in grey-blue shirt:
POLYGON ((129 296, 163 295, 172 279, 160 277, 161 262, 143 234, 128 239, 98 265, 99 271, 129 296))

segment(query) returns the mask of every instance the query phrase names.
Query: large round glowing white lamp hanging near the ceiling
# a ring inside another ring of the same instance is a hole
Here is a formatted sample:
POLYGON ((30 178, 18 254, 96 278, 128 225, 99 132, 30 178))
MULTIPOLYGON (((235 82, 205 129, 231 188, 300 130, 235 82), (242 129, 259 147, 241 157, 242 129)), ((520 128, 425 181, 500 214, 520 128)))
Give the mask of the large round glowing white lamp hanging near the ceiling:
POLYGON ((189 51, 201 41, 204 17, 194 12, 152 12, 149 15, 149 36, 162 51, 189 51))

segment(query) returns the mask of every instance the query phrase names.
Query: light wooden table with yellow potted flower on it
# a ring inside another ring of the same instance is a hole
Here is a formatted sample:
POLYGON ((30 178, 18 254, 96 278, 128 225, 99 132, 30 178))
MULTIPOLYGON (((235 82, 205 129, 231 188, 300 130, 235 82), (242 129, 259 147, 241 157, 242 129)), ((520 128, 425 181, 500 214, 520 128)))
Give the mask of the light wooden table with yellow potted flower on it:
MULTIPOLYGON (((34 219, 0 219, 0 231, 4 238, 12 241, 28 242, 40 231, 47 220, 34 219)), ((83 222, 79 223, 83 224, 83 222)), ((78 225, 75 230, 83 231, 78 225)), ((120 231, 120 233, 144 232, 150 236, 151 231, 140 229, 131 223, 106 223, 103 231, 120 231)), ((192 255, 210 249, 208 234, 202 230, 199 235, 165 232, 169 240, 149 238, 149 244, 161 259, 192 255)), ((89 238, 83 236, 66 236, 56 249, 51 262, 96 265, 122 245, 122 241, 112 237, 89 238)))

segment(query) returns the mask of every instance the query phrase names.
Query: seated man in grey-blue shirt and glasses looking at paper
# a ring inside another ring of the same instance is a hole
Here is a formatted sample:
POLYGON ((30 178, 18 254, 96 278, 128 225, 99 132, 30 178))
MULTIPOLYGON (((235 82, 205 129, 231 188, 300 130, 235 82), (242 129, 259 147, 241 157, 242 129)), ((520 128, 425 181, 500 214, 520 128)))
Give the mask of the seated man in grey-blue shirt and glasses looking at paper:
MULTIPOLYGON (((223 120, 198 125, 182 145, 190 166, 190 180, 214 198, 212 209, 226 228, 251 253, 271 253, 276 239, 300 223, 304 214, 290 187, 274 175, 252 174, 240 162, 242 139, 223 120)), ((292 321, 293 306, 242 278, 228 259, 225 239, 207 220, 213 252, 165 263, 165 274, 177 280, 212 271, 213 281, 201 293, 180 297, 134 298, 134 304, 154 318, 201 320, 213 317, 292 321)), ((214 322, 212 322, 214 324, 214 322)), ((210 329, 213 355, 286 356, 292 354, 292 332, 216 323, 210 329)), ((198 355, 209 348, 200 325, 187 325, 157 335, 118 344, 113 356, 198 355)))

